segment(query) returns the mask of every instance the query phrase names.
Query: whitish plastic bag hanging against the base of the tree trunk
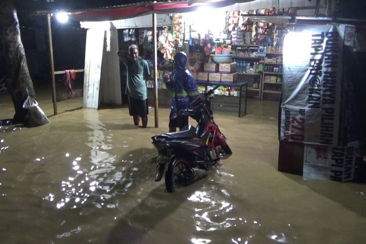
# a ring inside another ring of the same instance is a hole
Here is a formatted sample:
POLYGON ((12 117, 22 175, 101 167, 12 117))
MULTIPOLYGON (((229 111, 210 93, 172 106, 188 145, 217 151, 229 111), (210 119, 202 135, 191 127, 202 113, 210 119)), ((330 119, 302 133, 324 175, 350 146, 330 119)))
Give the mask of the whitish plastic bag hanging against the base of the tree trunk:
POLYGON ((42 109, 38 106, 38 102, 29 95, 23 103, 23 108, 28 109, 29 126, 35 127, 50 122, 42 109))

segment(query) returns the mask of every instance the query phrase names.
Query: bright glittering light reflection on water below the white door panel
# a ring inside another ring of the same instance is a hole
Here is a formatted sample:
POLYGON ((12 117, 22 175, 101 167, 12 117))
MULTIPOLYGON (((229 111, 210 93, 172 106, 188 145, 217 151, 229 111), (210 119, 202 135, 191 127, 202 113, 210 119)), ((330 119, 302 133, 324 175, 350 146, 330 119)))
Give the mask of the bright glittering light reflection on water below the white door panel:
MULTIPOLYGON (((99 120, 98 111, 87 109, 83 111, 83 116, 85 126, 91 130, 86 132, 87 142, 85 142, 91 148, 90 155, 81 154, 71 160, 71 172, 75 174, 61 182, 64 197, 57 201, 58 209, 66 206, 77 208, 88 200, 97 208, 101 208, 106 200, 112 198, 108 192, 122 179, 122 172, 112 172, 116 168, 113 163, 117 156, 107 152, 113 148, 112 145, 105 144, 106 138, 110 140, 111 137, 104 136, 105 125, 99 120), (84 161, 83 158, 88 158, 89 161, 84 161)), ((66 153, 65 157, 69 158, 70 154, 66 153)), ((44 199, 53 202, 55 194, 50 193, 44 199)), ((118 206, 116 201, 106 204, 108 208, 116 206, 118 206)))

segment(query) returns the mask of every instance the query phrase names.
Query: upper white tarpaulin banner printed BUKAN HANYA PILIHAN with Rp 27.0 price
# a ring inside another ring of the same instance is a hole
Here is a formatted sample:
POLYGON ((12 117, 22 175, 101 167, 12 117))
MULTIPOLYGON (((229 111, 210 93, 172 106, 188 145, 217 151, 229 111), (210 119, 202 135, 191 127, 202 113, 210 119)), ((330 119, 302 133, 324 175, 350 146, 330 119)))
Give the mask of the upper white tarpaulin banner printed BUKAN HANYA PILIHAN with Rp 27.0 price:
POLYGON ((344 30, 307 25, 286 35, 282 141, 338 145, 344 30))

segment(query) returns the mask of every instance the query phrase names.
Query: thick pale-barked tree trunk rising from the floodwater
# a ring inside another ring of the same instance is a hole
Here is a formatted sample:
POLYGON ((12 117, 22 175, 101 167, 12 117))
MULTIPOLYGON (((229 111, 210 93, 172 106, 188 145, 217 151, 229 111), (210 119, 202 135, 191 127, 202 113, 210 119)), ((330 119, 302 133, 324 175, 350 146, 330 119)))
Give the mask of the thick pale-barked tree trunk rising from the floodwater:
POLYGON ((34 124, 29 121, 32 118, 27 116, 28 110, 23 108, 28 93, 32 98, 35 98, 36 94, 20 39, 18 16, 13 0, 0 0, 0 41, 5 53, 5 85, 15 108, 13 123, 34 124))

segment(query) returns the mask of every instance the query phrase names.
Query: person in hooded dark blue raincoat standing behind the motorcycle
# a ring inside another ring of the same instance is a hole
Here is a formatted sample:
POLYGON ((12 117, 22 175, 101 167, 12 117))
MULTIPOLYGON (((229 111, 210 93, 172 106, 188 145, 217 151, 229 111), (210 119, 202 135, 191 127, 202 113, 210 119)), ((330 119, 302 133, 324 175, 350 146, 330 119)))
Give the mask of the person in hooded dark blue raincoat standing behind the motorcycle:
POLYGON ((181 109, 188 108, 191 102, 199 98, 200 92, 192 74, 185 69, 187 55, 178 52, 174 55, 174 70, 164 75, 166 87, 171 91, 171 111, 169 115, 169 132, 176 132, 188 125, 188 115, 178 116, 181 109))

